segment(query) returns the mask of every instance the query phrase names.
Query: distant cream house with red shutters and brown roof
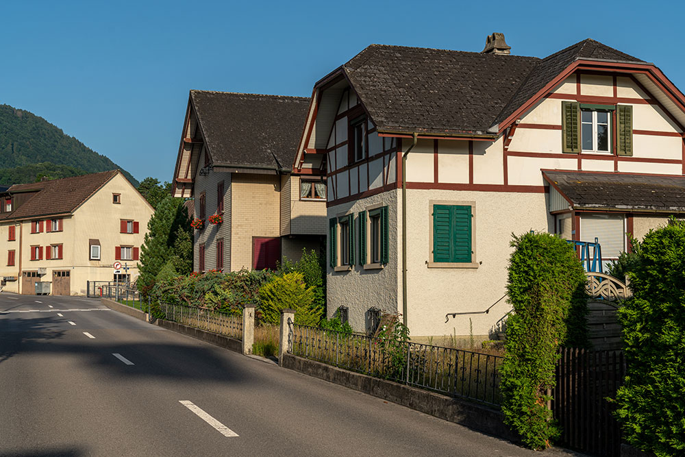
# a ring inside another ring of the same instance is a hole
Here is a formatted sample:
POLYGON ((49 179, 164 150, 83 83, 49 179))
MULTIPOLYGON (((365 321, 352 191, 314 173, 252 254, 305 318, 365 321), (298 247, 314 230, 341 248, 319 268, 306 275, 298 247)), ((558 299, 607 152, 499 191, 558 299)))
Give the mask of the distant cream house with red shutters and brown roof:
POLYGON ((119 170, 10 186, 0 193, 4 290, 32 295, 50 282, 52 295, 85 295, 89 281, 135 281, 153 212, 119 170))

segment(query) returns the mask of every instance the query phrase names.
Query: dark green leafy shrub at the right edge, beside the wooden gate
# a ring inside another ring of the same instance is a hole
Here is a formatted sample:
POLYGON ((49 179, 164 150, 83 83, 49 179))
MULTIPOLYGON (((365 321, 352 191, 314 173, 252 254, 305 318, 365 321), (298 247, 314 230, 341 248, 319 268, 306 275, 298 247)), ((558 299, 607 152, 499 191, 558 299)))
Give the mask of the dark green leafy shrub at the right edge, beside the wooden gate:
POLYGON ((619 308, 625 384, 616 417, 625 439, 657 456, 685 454, 685 222, 649 232, 619 308))

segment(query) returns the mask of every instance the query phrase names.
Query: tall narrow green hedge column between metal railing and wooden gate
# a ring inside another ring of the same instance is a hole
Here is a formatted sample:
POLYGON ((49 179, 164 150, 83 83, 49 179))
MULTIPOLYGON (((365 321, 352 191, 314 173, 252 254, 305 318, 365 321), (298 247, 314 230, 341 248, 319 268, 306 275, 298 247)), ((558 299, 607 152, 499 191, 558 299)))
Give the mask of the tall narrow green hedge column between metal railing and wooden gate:
POLYGON ((586 276, 573 247, 557 236, 527 233, 511 245, 507 291, 514 312, 500 369, 502 412, 525 445, 544 449, 559 433, 545 406, 558 347, 588 344, 586 276))

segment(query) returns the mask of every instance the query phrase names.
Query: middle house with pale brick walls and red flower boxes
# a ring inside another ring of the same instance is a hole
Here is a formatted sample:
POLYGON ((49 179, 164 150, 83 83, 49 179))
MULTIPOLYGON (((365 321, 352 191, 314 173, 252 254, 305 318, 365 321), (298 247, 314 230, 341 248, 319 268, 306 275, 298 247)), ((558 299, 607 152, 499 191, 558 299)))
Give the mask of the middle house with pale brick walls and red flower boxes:
POLYGON ((193 198, 194 269, 299 260, 326 232, 323 156, 292 166, 309 99, 190 90, 173 195, 193 198), (221 214, 223 222, 210 223, 221 214))

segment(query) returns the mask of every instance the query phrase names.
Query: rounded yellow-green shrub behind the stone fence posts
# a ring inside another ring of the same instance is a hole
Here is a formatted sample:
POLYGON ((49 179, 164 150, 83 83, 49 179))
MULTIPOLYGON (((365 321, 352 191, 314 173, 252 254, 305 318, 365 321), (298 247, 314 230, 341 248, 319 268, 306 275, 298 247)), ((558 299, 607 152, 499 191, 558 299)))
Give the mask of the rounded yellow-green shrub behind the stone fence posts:
POLYGON ((286 273, 275 276, 260 288, 260 308, 262 321, 277 325, 280 323, 281 310, 295 310, 295 323, 318 325, 322 310, 314 306, 314 288, 305 284, 302 273, 286 273))

